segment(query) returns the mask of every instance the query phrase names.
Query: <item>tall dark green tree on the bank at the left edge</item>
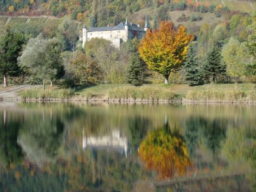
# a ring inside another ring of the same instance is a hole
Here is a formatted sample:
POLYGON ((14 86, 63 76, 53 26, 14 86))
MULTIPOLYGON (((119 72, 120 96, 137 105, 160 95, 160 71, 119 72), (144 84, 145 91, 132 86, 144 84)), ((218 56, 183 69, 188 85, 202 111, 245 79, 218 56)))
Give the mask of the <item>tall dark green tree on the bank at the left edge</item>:
POLYGON ((18 32, 13 33, 10 29, 6 29, 5 35, 0 38, 0 74, 4 77, 4 86, 8 85, 8 76, 19 74, 17 58, 24 42, 24 35, 18 32))

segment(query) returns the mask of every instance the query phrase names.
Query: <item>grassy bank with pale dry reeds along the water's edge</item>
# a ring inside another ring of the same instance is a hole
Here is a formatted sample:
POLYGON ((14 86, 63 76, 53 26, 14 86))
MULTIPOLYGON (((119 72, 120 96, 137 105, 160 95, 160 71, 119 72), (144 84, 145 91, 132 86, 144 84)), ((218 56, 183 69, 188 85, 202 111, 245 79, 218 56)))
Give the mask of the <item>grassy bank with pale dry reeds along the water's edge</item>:
MULTIPOLYGON (((4 88, 0 89, 0 97, 4 88)), ((12 98, 13 99, 13 98, 12 98)), ((63 89, 60 86, 41 86, 17 90, 15 100, 62 100, 105 102, 256 102, 255 84, 99 84, 63 89)))

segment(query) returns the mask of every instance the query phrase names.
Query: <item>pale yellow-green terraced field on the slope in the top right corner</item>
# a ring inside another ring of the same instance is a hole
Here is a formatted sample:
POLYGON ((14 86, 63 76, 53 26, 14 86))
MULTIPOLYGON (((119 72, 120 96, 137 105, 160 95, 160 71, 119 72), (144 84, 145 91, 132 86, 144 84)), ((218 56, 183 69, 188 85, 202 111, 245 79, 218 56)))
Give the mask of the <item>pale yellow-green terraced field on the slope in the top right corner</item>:
POLYGON ((250 1, 236 1, 236 0, 194 0, 196 4, 204 4, 209 6, 214 4, 216 6, 227 6, 231 11, 241 11, 241 12, 252 12, 256 10, 256 2, 250 1))

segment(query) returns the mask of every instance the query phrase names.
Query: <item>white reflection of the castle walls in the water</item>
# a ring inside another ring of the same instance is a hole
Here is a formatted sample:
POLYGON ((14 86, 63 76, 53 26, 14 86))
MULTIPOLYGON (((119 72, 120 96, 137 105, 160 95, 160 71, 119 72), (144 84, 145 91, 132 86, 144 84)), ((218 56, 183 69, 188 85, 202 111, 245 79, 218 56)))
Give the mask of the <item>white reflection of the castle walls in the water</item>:
POLYGON ((83 148, 113 148, 118 152, 125 152, 127 156, 128 140, 127 137, 120 136, 120 130, 113 130, 112 134, 105 136, 84 136, 83 148))

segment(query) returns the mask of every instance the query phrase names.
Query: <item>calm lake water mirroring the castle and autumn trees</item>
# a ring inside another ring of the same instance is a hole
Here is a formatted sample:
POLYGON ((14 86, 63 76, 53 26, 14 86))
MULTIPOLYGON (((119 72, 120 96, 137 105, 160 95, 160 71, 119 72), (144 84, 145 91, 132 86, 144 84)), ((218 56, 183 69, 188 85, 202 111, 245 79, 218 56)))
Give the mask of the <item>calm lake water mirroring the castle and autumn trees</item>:
POLYGON ((255 191, 255 117, 255 105, 0 103, 0 191, 255 191))

